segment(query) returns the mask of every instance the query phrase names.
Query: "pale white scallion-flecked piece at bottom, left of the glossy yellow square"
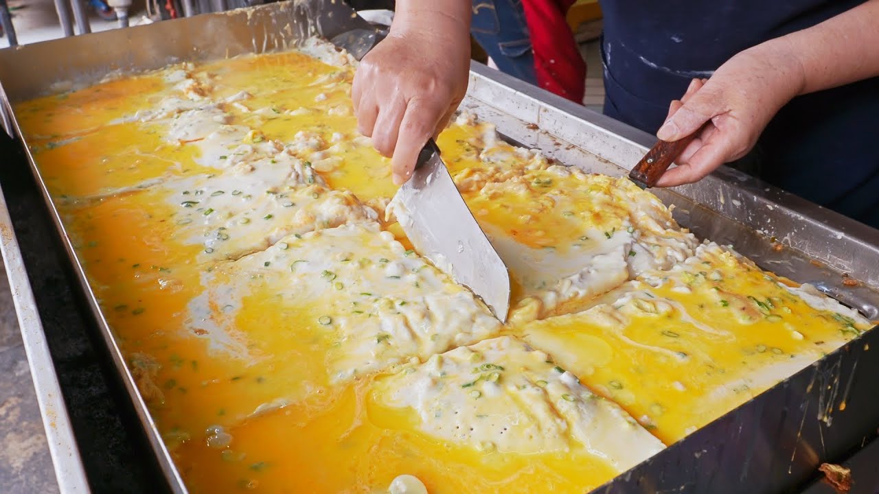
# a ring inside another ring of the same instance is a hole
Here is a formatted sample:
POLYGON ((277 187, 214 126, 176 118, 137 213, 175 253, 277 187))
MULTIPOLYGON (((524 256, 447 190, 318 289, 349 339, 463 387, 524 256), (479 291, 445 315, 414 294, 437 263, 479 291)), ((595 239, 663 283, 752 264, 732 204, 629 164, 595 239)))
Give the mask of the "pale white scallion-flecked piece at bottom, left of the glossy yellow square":
POLYGON ((381 382, 378 399, 442 440, 500 453, 565 452, 626 470, 663 448, 548 355, 505 336, 433 355, 381 382))

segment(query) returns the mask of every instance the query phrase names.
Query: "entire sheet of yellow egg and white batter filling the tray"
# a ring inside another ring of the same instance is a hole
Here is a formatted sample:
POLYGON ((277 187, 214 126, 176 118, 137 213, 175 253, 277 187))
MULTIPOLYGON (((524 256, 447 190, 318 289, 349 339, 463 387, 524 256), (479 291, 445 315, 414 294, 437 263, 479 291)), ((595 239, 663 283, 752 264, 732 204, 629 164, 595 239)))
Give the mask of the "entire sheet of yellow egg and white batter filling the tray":
POLYGON ((438 142, 502 325, 410 249, 355 63, 309 40, 16 105, 189 489, 583 492, 868 329, 461 115, 438 142))

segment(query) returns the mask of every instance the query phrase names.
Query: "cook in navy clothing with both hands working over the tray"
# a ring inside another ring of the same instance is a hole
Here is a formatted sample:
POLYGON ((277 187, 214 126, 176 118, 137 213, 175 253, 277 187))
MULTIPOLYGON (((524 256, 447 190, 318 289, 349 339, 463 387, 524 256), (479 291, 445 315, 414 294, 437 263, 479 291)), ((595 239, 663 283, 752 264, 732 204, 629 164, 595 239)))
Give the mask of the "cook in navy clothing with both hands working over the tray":
MULTIPOLYGON (((605 113, 698 133, 660 186, 723 163, 879 228, 879 0, 604 0, 605 113)), ((395 181, 467 89, 469 0, 396 5, 354 77, 360 131, 395 181)))

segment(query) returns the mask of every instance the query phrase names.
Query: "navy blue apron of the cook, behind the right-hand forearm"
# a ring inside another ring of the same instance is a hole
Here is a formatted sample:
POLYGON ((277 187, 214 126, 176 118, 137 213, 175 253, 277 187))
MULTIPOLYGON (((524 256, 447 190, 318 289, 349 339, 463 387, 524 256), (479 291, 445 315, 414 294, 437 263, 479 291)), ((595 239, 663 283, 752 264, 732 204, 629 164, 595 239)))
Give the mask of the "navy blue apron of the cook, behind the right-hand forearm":
MULTIPOLYGON (((734 54, 864 0, 602 0, 605 113, 656 133, 672 99, 734 54)), ((879 228, 879 78, 795 98, 749 162, 767 182, 879 228), (756 158, 755 158, 756 156, 756 158)))

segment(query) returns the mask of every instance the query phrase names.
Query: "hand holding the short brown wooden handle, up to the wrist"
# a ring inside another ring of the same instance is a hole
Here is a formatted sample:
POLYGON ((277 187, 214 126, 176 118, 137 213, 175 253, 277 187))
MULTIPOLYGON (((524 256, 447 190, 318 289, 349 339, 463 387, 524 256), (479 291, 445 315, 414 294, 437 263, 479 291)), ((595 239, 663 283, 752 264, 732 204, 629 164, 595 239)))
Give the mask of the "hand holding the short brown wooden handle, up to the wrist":
POLYGON ((745 156, 775 113, 802 91, 804 77, 787 44, 775 40, 733 56, 710 79, 694 79, 683 98, 672 101, 657 137, 677 141, 708 125, 657 186, 693 183, 745 156))

